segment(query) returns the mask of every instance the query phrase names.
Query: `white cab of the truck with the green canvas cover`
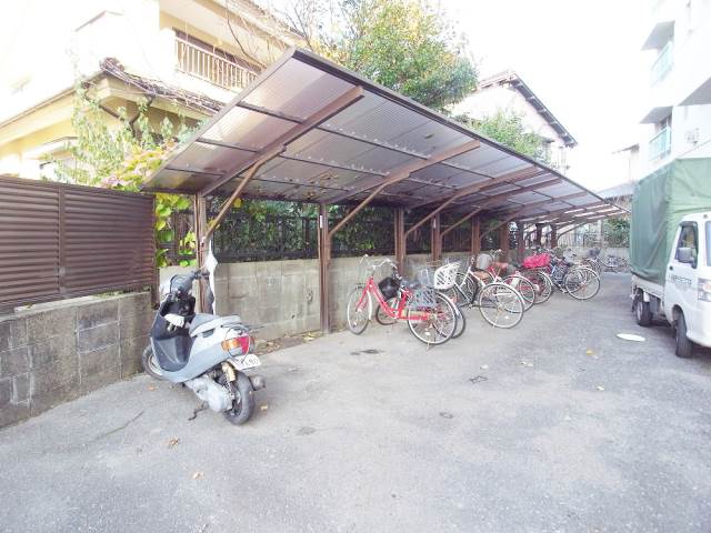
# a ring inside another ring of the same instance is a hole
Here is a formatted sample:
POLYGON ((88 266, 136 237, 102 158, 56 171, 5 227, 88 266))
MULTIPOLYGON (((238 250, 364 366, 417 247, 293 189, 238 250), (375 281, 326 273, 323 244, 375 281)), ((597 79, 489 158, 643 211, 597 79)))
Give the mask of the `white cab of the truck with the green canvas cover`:
POLYGON ((674 326, 677 354, 711 346, 711 212, 685 215, 667 264, 663 310, 674 326))

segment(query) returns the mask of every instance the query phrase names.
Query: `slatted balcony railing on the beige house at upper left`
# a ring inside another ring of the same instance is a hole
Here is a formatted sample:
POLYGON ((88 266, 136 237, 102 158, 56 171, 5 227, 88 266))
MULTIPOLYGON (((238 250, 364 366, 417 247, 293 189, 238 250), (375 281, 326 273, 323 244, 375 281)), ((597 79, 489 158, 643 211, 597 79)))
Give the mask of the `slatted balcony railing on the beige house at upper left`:
POLYGON ((176 37, 176 57, 178 58, 178 70, 180 72, 200 78, 224 89, 243 89, 257 77, 257 74, 240 64, 204 50, 180 37, 176 37))

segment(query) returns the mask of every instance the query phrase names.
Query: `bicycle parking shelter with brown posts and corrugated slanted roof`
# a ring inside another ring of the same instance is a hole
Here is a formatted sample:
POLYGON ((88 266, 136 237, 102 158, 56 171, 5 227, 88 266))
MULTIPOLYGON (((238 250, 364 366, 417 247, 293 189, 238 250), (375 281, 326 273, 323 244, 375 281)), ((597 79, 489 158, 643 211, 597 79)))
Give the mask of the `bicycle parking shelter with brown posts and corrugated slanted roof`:
MULTIPOLYGON (((524 227, 577 227, 627 214, 527 155, 475 133, 321 57, 291 49, 180 145, 144 191, 191 194, 198 260, 239 198, 319 204, 320 320, 330 330, 328 272, 336 232, 367 205, 394 211, 394 250, 404 265, 408 237, 429 223, 432 257, 442 238, 471 221, 471 252, 487 233, 524 227), (206 198, 228 195, 207 223, 206 198), (351 207, 329 228, 328 208, 351 207), (405 230, 404 212, 429 210, 405 230), (457 221, 440 227, 440 215, 457 221), (481 232, 482 219, 498 223, 481 232)), ((572 229, 572 228, 571 228, 572 229)), ((508 239, 504 240, 508 247, 508 239)))

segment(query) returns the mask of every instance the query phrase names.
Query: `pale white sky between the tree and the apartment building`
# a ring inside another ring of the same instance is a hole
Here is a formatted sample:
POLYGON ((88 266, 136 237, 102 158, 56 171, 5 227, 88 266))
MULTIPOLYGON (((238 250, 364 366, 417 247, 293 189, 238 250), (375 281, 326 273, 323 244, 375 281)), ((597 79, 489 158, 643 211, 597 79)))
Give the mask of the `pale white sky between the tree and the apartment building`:
POLYGON ((514 70, 578 140, 569 175, 600 190, 625 179, 612 154, 637 141, 644 0, 442 0, 480 77, 514 70))

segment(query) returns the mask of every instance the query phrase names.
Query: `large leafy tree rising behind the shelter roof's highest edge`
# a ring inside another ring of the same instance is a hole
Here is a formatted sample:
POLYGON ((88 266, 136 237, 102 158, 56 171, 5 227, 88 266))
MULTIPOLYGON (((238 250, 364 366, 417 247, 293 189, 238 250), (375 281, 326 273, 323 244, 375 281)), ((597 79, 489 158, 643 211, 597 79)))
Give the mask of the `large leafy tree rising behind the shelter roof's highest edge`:
POLYGON ((429 1, 293 0, 287 14, 314 51, 430 108, 477 84, 463 38, 429 1))

